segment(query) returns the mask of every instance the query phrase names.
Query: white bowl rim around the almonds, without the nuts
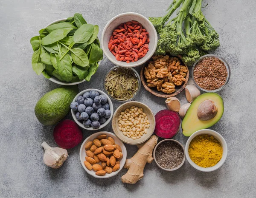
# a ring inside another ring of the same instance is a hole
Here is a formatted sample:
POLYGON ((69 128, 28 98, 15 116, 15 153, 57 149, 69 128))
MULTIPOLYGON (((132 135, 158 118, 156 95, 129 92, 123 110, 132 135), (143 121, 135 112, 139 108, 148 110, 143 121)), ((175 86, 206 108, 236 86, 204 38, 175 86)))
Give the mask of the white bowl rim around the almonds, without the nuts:
MULTIPOLYGON (((95 178, 101 178, 101 179, 103 179, 103 178, 110 178, 110 177, 113 177, 114 175, 117 175, 117 174, 122 170, 122 168, 123 168, 124 165, 125 165, 125 163, 120 163, 120 168, 119 168, 119 170, 117 170, 117 171, 115 171, 115 172, 112 172, 113 175, 112 175, 112 173, 110 173, 110 174, 106 174, 106 175, 104 175, 104 176, 96 175, 95 172, 91 172, 90 170, 88 170, 88 169, 85 167, 85 165, 84 165, 84 159, 82 159, 82 152, 83 152, 83 151, 85 152, 85 150, 83 149, 85 142, 86 142, 87 140, 89 140, 89 139, 91 138, 91 136, 96 136, 96 137, 97 137, 97 136, 102 135, 102 134, 108 134, 108 135, 111 135, 111 136, 116 137, 116 135, 115 135, 114 133, 111 133, 111 132, 108 132, 108 131, 100 131, 100 132, 97 132, 97 133, 93 133, 92 135, 88 136, 88 137, 83 141, 83 143, 81 144, 81 147, 80 147, 80 151, 79 151, 79 158, 80 158, 80 161, 81 161, 81 164, 82 164, 82 167, 84 168, 84 170, 85 170, 89 175, 92 175, 92 176, 95 177, 95 178), (92 174, 92 173, 94 173, 94 174, 92 174)), ((118 139, 118 138, 116 137, 116 139, 118 139)), ((118 139, 118 140, 120 140, 120 139, 118 139)), ((120 145, 120 146, 122 147, 122 154, 123 154, 123 158, 122 158, 121 160, 123 160, 123 161, 125 162, 125 161, 126 161, 126 157, 127 157, 127 150, 126 150, 125 144, 122 142, 122 140, 120 140, 120 142, 121 142, 121 144, 122 144, 122 145, 120 145), (125 149, 123 149, 123 148, 125 148, 125 149)))

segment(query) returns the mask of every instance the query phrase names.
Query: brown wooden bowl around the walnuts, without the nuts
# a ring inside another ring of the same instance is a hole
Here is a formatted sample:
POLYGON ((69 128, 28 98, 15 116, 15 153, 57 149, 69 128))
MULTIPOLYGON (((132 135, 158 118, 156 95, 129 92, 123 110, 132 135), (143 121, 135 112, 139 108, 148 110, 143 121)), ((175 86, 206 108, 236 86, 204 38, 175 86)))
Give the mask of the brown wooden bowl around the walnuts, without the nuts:
MULTIPOLYGON (((177 55, 177 56, 170 56, 170 57, 178 57, 180 60, 181 60, 181 56, 180 55, 177 55)), ((152 58, 152 57, 151 57, 152 58)), ((151 59, 150 58, 150 59, 151 59)), ((149 60, 150 60, 149 59, 149 60)), ((183 89, 186 87, 186 84, 189 80, 189 68, 188 66, 183 62, 183 64, 186 66, 188 72, 187 72, 187 75, 186 75, 186 81, 184 82, 184 84, 181 86, 181 88, 179 88, 179 90, 175 91, 174 93, 172 94, 160 94, 160 91, 154 91, 153 89, 149 88, 148 85, 146 84, 145 82, 145 79, 144 79, 144 75, 143 75, 143 71, 144 71, 144 68, 146 65, 143 65, 143 67, 141 68, 140 70, 140 79, 141 79, 141 82, 143 84, 143 87, 150 93, 152 93, 153 95, 157 96, 157 97, 160 97, 160 98, 169 98, 169 97, 173 97, 173 96, 176 96, 178 95, 181 91, 183 91, 183 89)))

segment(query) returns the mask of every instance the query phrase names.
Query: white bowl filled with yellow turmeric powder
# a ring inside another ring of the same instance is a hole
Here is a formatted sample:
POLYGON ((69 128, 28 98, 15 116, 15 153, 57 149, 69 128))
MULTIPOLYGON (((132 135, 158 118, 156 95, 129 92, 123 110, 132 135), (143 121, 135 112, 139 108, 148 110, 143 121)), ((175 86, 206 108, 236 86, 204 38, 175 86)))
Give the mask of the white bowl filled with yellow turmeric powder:
POLYGON ((224 164, 227 158, 227 143, 218 132, 202 129, 189 137, 185 153, 192 167, 211 172, 224 164))

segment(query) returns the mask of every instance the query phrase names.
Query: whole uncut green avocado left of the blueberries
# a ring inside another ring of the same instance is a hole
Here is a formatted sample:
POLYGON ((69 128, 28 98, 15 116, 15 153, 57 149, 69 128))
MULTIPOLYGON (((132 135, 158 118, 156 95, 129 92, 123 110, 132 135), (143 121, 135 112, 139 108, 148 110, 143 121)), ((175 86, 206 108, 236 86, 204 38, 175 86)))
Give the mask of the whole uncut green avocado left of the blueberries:
POLYGON ((46 93, 35 105, 35 116, 42 124, 57 124, 70 110, 70 103, 78 94, 77 86, 54 89, 46 93))

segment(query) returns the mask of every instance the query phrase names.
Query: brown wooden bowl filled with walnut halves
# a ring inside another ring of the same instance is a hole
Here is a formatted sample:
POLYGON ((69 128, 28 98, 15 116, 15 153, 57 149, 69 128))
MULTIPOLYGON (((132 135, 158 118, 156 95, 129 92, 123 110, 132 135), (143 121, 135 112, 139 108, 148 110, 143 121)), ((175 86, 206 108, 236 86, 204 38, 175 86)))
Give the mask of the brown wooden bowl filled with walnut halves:
POLYGON ((169 98, 179 94, 189 79, 189 69, 181 56, 155 55, 140 71, 144 88, 155 96, 169 98))

